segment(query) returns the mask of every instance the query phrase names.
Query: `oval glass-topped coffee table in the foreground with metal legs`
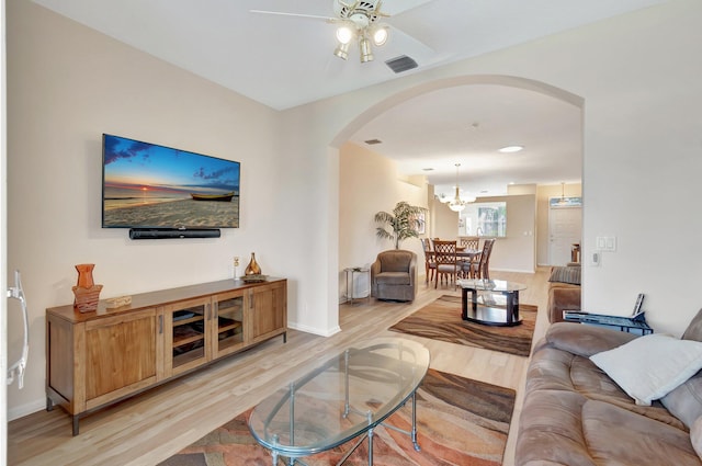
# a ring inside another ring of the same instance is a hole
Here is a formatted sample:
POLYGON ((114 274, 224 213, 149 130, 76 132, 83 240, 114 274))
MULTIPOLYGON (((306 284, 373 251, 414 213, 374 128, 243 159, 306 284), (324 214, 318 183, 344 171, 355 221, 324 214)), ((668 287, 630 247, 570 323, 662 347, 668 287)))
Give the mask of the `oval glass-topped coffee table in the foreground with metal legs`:
POLYGON ((366 437, 372 465, 373 430, 411 400, 411 431, 399 431, 419 450, 416 393, 429 360, 429 350, 412 340, 361 342, 263 399, 249 417, 249 430, 271 451, 274 466, 279 456, 292 465, 356 439, 341 464, 366 437))

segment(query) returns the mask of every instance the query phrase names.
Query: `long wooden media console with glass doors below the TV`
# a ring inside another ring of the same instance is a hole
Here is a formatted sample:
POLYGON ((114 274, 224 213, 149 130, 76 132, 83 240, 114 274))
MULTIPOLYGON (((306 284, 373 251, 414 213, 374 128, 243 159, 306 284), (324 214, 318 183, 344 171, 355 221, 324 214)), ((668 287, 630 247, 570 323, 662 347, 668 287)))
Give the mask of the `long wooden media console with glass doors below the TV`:
POLYGON ((46 409, 79 419, 271 338, 287 336, 287 281, 223 280, 81 314, 46 309, 46 409))

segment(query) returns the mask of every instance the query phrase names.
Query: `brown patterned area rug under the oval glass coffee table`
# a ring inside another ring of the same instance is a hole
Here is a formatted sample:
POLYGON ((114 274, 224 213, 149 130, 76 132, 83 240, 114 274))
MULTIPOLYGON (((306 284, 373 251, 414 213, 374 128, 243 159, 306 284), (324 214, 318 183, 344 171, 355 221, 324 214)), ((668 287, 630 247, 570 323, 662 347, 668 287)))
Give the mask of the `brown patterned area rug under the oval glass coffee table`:
MULTIPOLYGON (((514 409, 514 390, 429 370, 417 390, 417 430, 421 451, 408 435, 378 427, 374 431, 373 464, 377 466, 499 466, 514 409)), ((409 404, 408 404, 409 405, 409 404)), ((270 466, 270 453, 249 433, 250 410, 214 430, 159 466, 270 466)), ((411 429, 409 406, 387 421, 411 429)), ((303 458, 309 466, 336 465, 353 442, 303 458)), ((347 461, 367 465, 366 442, 347 461)))

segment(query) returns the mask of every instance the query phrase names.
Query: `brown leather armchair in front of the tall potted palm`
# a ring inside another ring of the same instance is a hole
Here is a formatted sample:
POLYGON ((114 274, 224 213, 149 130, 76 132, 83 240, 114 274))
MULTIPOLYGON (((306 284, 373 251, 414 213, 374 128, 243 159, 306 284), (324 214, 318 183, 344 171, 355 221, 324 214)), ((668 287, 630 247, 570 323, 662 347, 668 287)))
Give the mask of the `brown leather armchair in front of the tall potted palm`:
POLYGON ((371 265, 371 296, 385 300, 415 300, 417 254, 393 249, 377 254, 371 265))

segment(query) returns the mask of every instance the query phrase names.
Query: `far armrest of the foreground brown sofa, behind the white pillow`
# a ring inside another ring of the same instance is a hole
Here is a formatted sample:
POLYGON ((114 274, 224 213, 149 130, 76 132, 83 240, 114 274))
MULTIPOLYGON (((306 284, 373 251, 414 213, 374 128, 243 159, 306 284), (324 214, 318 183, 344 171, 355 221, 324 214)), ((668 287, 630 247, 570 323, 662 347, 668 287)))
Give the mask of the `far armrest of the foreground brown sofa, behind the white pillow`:
POLYGON ((546 332, 545 340, 551 346, 582 357, 602 351, 613 350, 638 337, 635 333, 621 332, 605 327, 585 323, 556 322, 546 332))

